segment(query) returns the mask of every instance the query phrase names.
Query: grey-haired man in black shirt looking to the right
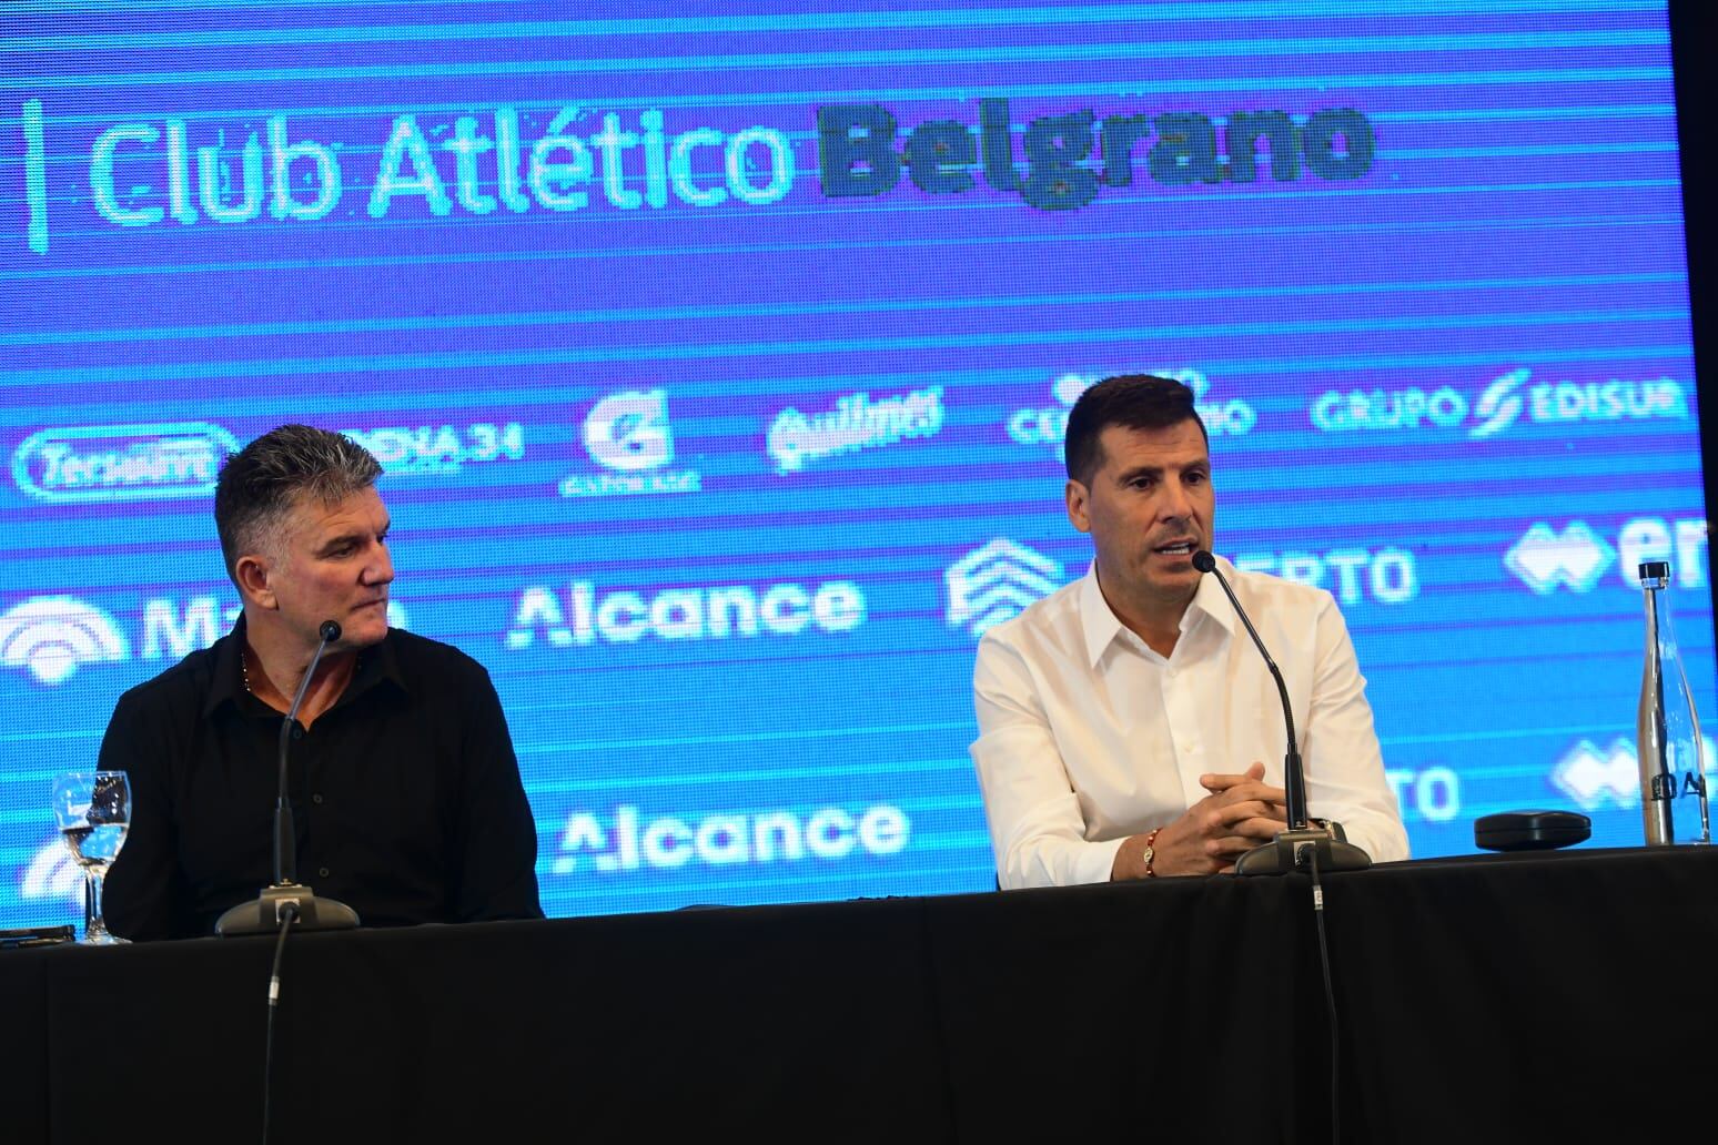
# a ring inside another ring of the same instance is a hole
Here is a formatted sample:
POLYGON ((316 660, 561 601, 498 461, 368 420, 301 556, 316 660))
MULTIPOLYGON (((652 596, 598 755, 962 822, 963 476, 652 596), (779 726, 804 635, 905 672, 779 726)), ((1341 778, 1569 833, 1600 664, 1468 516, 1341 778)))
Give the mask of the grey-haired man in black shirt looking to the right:
POLYGON ((215 524, 244 616, 120 697, 100 766, 125 771, 132 824, 107 877, 131 939, 213 934, 273 879, 280 721, 326 620, 294 728, 297 874, 364 925, 541 918, 536 826, 490 675, 388 628, 381 467, 321 429, 235 453, 215 524))

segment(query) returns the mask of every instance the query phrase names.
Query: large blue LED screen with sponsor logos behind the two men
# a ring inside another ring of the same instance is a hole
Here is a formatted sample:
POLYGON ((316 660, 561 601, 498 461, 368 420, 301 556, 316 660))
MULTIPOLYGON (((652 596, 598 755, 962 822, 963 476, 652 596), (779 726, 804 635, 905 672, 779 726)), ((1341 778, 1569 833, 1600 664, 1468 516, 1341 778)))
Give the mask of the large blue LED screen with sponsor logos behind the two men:
POLYGON ((1661 5, 718 7, 7 5, 0 920, 285 421, 385 463, 550 913, 990 888, 974 644, 1120 371, 1342 603, 1417 855, 1641 839, 1644 556, 1718 711, 1661 5))

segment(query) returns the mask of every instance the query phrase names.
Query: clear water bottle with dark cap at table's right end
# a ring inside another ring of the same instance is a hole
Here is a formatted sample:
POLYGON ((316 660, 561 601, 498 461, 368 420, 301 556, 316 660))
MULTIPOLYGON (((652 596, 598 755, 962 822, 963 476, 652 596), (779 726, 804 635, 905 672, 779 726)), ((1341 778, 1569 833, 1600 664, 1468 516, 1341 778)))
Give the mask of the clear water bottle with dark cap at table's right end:
POLYGON ((1646 666, 1641 673, 1636 742, 1646 843, 1711 843, 1701 721, 1694 714, 1694 694, 1682 671, 1670 608, 1665 604, 1670 563, 1642 561, 1641 587, 1641 596, 1646 597, 1646 666))

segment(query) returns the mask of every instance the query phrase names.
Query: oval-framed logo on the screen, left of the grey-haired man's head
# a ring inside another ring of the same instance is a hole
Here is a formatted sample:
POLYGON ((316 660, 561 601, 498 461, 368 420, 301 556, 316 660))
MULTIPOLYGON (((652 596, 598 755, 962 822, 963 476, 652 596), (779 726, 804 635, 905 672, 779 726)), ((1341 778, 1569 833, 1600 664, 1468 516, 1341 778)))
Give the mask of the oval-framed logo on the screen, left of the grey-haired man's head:
POLYGON ((210 422, 74 426, 33 433, 12 453, 12 482, 38 501, 146 501, 213 493, 239 441, 210 422))

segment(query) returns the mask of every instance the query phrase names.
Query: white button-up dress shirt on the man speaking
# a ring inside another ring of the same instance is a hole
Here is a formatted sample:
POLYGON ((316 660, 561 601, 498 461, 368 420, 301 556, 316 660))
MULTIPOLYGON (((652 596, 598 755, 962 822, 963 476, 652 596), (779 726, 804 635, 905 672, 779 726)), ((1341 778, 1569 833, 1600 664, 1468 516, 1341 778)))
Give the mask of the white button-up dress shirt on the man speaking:
MULTIPOLYGON (((1288 687, 1307 815, 1342 822, 1373 862, 1407 858, 1337 601, 1218 563, 1288 687)), ((972 697, 972 762, 1005 889, 1108 881, 1124 839, 1208 795, 1201 774, 1263 762, 1264 779, 1283 783, 1276 683, 1215 577, 1199 580, 1163 657, 1115 618, 1093 565, 984 633, 972 697)))

